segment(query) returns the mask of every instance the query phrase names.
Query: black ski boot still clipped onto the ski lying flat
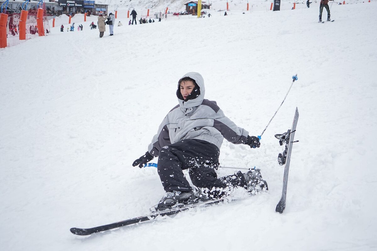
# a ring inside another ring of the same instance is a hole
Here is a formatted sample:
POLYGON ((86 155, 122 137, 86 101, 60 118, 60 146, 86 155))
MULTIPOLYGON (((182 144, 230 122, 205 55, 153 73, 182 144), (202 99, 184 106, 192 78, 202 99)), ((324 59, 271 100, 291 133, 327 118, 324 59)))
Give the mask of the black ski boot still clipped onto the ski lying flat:
POLYGON ((167 192, 157 205, 150 208, 151 211, 161 211, 170 209, 179 204, 187 204, 196 199, 193 192, 181 192, 181 191, 172 191, 167 192))

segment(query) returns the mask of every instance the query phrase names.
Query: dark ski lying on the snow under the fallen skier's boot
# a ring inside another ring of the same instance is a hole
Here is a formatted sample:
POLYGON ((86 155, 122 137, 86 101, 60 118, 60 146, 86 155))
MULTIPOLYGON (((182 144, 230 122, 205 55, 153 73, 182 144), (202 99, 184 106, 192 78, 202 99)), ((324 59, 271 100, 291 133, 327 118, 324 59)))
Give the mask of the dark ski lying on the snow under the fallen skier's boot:
POLYGON ((93 233, 103 232, 103 231, 118 228, 118 227, 133 225, 133 224, 136 224, 136 223, 139 223, 139 222, 150 221, 150 220, 158 218, 159 216, 162 217, 162 216, 169 216, 169 215, 177 214, 181 211, 188 210, 190 208, 194 208, 194 207, 201 206, 201 205, 204 206, 204 205, 218 204, 218 203, 223 202, 223 201, 224 201, 224 199, 198 201, 198 202, 195 202, 193 204, 179 205, 178 207, 174 207, 174 208, 167 209, 167 210, 164 210, 164 211, 156 211, 156 212, 149 214, 149 215, 146 215, 146 216, 127 219, 127 220, 124 220, 124 221, 114 222, 114 223, 111 223, 111 224, 106 224, 106 225, 102 225, 102 226, 98 226, 98 227, 93 227, 93 228, 75 228, 74 227, 74 228, 71 228, 70 231, 71 231, 72 234, 77 234, 77 235, 82 235, 82 236, 90 235, 90 234, 93 234, 93 233))

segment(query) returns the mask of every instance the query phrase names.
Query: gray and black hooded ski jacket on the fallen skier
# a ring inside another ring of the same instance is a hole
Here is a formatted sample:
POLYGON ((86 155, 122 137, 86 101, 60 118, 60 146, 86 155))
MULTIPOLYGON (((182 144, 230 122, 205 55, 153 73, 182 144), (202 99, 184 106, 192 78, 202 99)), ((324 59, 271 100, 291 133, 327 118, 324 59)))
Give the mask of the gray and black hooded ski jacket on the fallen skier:
POLYGON ((200 95, 187 101, 178 98, 179 105, 162 120, 157 134, 148 146, 148 152, 156 157, 162 147, 190 138, 205 140, 219 149, 224 138, 233 144, 244 143, 248 132, 225 117, 215 101, 204 99, 203 77, 196 72, 189 72, 182 78, 184 77, 196 81, 200 95))

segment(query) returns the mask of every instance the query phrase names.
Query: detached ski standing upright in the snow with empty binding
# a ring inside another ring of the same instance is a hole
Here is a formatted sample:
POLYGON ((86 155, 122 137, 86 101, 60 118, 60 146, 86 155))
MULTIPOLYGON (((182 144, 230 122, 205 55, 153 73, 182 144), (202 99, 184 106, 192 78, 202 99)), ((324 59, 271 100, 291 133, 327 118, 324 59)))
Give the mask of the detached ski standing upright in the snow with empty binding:
POLYGON ((284 178, 283 178, 283 191, 282 197, 280 198, 279 203, 276 205, 275 211, 278 213, 283 213, 285 209, 285 201, 287 198, 287 183, 288 183, 288 172, 289 172, 289 164, 291 161, 291 152, 293 143, 298 141, 293 141, 294 133, 296 132, 297 120, 299 119, 299 110, 296 107, 296 111, 294 113, 292 128, 288 129, 287 132, 283 134, 276 134, 275 137, 279 140, 280 146, 285 143, 285 150, 282 154, 279 154, 277 160, 280 166, 285 164, 284 167, 284 178))

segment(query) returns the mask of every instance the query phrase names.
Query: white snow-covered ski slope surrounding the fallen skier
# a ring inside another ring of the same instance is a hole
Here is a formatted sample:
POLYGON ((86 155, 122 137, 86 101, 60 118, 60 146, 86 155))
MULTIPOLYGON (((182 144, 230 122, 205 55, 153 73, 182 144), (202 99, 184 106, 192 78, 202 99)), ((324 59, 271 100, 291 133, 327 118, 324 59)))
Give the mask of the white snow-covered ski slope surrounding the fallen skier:
POLYGON ((89 21, 60 32, 61 19, 48 37, 0 50, 1 249, 376 250, 376 11, 375 2, 333 5, 336 21, 324 24, 317 6, 168 19, 101 39, 89 21), (188 71, 203 75, 206 98, 251 135, 297 73, 261 148, 224 141, 221 149, 223 166, 259 167, 270 193, 238 190, 244 199, 231 204, 72 235, 71 227, 146 214, 161 198, 156 169, 131 164, 177 104, 188 71), (300 142, 277 214, 284 169, 273 135, 290 128, 296 106, 300 142))

